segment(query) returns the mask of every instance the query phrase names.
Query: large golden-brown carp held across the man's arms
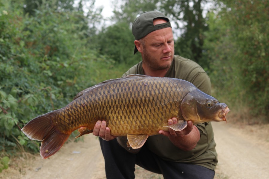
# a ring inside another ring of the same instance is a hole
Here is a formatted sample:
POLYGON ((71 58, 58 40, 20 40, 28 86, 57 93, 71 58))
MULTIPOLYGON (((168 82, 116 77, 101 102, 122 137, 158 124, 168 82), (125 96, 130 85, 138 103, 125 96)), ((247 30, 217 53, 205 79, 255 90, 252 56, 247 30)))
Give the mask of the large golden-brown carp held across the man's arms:
POLYGON ((74 130, 79 129, 79 136, 93 132, 97 120, 105 120, 111 135, 127 136, 129 145, 137 149, 159 130, 180 131, 187 121, 226 121, 229 111, 226 104, 188 81, 128 75, 79 92, 67 106, 29 121, 22 132, 42 141, 40 155, 45 159, 55 154, 74 130), (178 123, 168 126, 172 117, 178 118, 178 123))

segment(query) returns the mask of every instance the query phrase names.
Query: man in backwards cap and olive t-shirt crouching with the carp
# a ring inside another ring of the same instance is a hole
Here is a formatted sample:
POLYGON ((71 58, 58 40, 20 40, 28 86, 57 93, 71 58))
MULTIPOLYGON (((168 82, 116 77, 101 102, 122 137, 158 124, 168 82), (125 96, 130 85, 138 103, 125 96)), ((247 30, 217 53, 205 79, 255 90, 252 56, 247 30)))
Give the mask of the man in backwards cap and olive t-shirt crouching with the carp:
MULTIPOLYGON (((132 32, 134 54, 140 52, 142 61, 123 76, 180 78, 211 94, 206 72, 197 63, 174 55, 172 28, 165 15, 158 11, 143 13, 134 21, 132 32)), ((177 118, 168 120, 168 125, 176 123, 177 118)), ((161 135, 149 136, 140 149, 127 148, 126 137, 110 135, 106 121, 97 121, 93 134, 100 136, 107 178, 135 178, 135 164, 169 179, 214 178, 217 153, 210 122, 194 126, 188 121, 187 128, 180 132, 160 130, 161 135)))

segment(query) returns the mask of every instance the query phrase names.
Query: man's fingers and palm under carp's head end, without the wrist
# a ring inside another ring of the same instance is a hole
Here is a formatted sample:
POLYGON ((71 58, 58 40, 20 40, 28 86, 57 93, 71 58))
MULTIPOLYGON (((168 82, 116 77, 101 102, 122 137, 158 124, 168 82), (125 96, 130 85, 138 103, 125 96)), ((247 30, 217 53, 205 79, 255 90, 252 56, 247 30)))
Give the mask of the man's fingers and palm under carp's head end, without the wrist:
MULTIPOLYGON (((172 125, 172 124, 177 124, 178 123, 178 119, 177 118, 172 118, 168 120, 168 126, 172 125)), ((189 134, 193 129, 193 124, 192 121, 188 121, 188 125, 185 129, 181 130, 181 131, 175 131, 171 128, 169 128, 169 132, 160 130, 159 134, 162 134, 164 136, 173 136, 173 137, 184 137, 184 135, 189 134)))

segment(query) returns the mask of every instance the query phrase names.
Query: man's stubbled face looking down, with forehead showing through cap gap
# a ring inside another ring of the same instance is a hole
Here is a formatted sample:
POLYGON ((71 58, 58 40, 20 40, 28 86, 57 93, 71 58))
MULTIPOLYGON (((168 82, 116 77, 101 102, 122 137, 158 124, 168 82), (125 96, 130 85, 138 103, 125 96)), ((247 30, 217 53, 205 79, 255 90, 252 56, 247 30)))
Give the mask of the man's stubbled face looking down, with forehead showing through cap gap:
MULTIPOLYGON (((154 24, 165 23, 157 19, 154 24)), ((165 70, 171 66, 174 58, 174 40, 172 28, 167 27, 149 33, 142 39, 143 63, 151 70, 165 70)))

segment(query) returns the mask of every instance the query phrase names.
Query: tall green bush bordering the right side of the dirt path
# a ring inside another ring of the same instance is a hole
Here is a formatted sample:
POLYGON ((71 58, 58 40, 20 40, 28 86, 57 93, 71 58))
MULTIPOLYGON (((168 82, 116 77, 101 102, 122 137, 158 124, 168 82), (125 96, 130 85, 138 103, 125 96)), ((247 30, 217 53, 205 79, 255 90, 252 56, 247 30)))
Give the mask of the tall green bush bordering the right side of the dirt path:
POLYGON ((222 89, 238 112, 246 108, 256 118, 269 111, 268 5, 222 1, 217 16, 209 14, 205 45, 216 89, 222 89))

